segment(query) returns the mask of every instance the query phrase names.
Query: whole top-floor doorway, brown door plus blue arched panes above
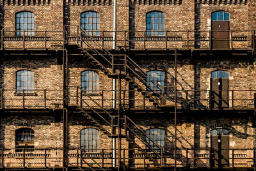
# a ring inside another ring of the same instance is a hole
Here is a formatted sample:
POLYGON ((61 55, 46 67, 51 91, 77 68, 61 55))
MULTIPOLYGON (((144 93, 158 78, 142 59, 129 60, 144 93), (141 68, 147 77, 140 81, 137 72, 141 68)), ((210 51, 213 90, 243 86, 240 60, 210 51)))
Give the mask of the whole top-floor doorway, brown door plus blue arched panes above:
POLYGON ((229 13, 216 11, 212 13, 212 48, 229 48, 229 13))

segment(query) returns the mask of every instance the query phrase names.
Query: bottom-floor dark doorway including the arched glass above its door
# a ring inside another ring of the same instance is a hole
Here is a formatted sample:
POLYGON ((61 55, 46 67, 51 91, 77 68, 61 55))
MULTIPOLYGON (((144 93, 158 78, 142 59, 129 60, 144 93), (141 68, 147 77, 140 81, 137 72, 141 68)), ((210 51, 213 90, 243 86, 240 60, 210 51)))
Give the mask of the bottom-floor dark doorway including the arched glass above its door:
POLYGON ((216 128, 211 131, 211 168, 229 167, 229 131, 216 128))

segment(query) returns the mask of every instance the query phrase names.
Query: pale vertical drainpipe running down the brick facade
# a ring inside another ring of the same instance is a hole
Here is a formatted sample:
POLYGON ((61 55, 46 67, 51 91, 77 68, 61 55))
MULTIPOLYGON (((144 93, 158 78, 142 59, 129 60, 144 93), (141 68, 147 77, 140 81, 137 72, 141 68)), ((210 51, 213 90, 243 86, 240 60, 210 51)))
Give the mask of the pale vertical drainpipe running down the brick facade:
MULTIPOLYGON (((114 10, 113 10, 113 49, 116 49, 116 0, 114 0, 114 10)), ((115 68, 114 68, 115 70, 115 68)), ((113 78, 113 108, 116 108, 116 79, 113 78)), ((115 120, 115 119, 114 119, 115 120)), ((115 121, 114 121, 115 123, 115 121)), ((114 133, 115 133, 114 129, 114 133)), ((113 144, 113 167, 116 167, 116 138, 112 139, 113 144)))

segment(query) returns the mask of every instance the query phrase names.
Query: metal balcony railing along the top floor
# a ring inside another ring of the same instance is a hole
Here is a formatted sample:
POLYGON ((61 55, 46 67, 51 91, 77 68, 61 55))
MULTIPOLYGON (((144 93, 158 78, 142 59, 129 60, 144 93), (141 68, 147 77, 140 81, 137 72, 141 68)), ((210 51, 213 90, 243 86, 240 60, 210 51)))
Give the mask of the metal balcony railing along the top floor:
MULTIPOLYGON (((81 43, 81 37, 88 42, 98 41, 102 47, 112 49, 114 41, 114 31, 97 31, 99 36, 84 36, 77 26, 70 26, 65 31, 33 31, 33 36, 27 36, 28 31, 21 31, 22 36, 16 36, 17 32, 20 33, 20 31, 5 30, 0 32, 0 50, 61 50, 64 43, 69 45, 81 43)), ((216 43, 225 44, 221 50, 252 50, 255 48, 255 31, 159 31, 164 34, 147 36, 148 32, 150 31, 116 31, 117 48, 218 50, 220 48, 214 47, 216 43), (227 38, 213 38, 212 35, 216 32, 227 33, 227 38)))

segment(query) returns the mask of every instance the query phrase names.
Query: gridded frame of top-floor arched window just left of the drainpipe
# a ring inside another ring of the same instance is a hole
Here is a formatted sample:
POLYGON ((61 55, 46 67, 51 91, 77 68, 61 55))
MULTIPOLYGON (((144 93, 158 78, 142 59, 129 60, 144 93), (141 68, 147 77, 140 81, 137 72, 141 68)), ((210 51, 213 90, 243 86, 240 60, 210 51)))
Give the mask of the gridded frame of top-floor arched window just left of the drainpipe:
MULTIPOLYGON (((89 36, 100 36, 100 14, 97 11, 82 12, 80 15, 80 26, 89 36), (88 13, 88 18, 86 18, 86 13, 88 13), (90 13, 92 13, 92 17, 90 17, 90 13), (94 17, 94 14, 95 14, 95 17, 94 17), (83 22, 83 19, 84 19, 84 22, 83 22), (93 22, 94 19, 95 19, 95 22, 93 22), (88 22, 86 22, 86 20, 88 20, 88 22), (90 22, 90 20, 92 20, 92 22, 90 22), (86 29, 86 25, 88 25, 88 29, 86 29), (92 25, 91 26, 92 29, 90 29, 90 25, 92 25), (95 25, 95 28, 93 27, 93 25, 95 25)), ((86 34, 84 33, 83 35, 86 36, 86 34)))

